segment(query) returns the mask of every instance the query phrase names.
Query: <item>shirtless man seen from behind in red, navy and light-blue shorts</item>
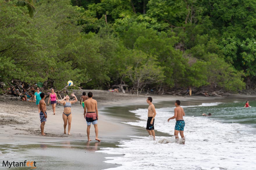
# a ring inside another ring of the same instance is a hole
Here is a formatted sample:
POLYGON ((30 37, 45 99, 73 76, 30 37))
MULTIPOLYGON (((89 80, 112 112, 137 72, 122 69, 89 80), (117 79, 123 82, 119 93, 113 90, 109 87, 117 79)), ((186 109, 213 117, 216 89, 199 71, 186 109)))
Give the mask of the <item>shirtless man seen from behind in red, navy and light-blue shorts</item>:
POLYGON ((84 101, 84 112, 83 112, 83 116, 86 119, 86 123, 87 123, 87 137, 88 137, 88 141, 90 140, 90 127, 91 124, 94 125, 95 128, 95 140, 97 140, 98 142, 100 142, 100 140, 98 139, 98 120, 99 120, 99 116, 98 116, 98 108, 97 108, 97 101, 94 100, 93 97, 93 93, 89 92, 88 93, 88 99, 84 101), (86 111, 87 109, 87 111, 86 111))

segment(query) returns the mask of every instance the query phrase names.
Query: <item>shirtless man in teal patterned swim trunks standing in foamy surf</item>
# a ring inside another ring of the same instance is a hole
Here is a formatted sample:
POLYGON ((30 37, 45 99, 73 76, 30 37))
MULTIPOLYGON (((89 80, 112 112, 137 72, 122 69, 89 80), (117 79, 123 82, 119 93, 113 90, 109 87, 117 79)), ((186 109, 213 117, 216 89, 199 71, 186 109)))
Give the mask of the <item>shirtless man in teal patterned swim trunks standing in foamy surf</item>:
POLYGON ((185 144, 185 137, 184 137, 184 127, 185 127, 185 122, 183 120, 183 116, 185 116, 185 112, 183 110, 182 107, 179 106, 180 105, 180 101, 176 100, 175 101, 175 106, 176 108, 174 109, 174 116, 171 118, 168 118, 168 122, 170 119, 176 119, 176 125, 175 125, 175 130, 174 130, 174 136, 176 139, 176 142, 179 143, 179 136, 178 134, 180 134, 180 136, 182 137, 182 144, 185 144))

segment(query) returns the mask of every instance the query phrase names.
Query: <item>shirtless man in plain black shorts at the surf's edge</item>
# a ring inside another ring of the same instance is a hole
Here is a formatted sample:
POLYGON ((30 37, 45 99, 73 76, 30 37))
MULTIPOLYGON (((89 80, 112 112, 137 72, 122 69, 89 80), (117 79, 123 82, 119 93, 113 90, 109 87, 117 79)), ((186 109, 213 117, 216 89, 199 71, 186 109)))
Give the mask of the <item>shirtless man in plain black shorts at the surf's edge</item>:
POLYGON ((147 108, 147 132, 149 133, 150 136, 153 136, 154 140, 156 140, 155 137, 155 131, 154 131, 154 121, 155 121, 155 116, 156 116, 156 109, 155 106, 152 104, 152 97, 147 98, 147 103, 149 104, 147 108))

